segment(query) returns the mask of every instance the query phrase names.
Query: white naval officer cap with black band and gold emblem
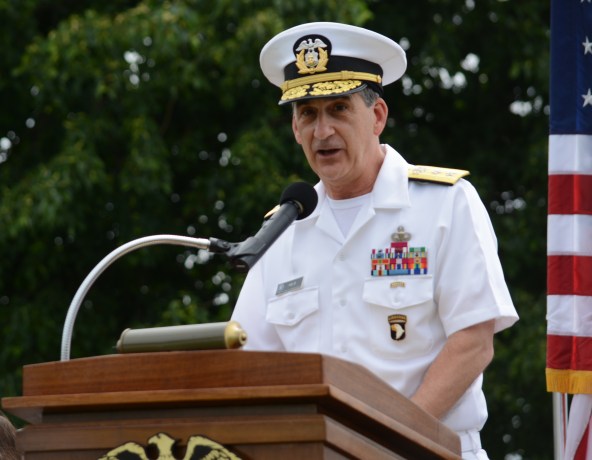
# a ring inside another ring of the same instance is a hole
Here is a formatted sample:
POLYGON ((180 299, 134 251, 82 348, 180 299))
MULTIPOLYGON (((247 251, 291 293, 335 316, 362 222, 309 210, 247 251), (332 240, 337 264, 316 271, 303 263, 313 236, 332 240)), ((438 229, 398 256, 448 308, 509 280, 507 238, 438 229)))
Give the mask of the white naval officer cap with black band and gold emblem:
POLYGON ((279 104, 351 94, 371 86, 382 95, 405 73, 405 51, 384 35, 335 22, 285 30, 261 50, 261 70, 282 90, 279 104))

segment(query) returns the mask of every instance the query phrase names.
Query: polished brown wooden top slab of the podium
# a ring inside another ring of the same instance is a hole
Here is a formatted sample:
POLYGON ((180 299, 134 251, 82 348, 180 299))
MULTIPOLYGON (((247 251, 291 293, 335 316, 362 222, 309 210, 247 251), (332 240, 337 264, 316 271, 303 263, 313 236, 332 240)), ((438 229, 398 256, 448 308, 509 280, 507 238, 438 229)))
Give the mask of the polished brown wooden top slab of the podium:
POLYGON ((171 351, 32 364, 23 368, 23 396, 2 406, 41 423, 46 414, 80 410, 298 402, 363 414, 417 442, 460 451, 453 431, 366 368, 313 353, 171 351))

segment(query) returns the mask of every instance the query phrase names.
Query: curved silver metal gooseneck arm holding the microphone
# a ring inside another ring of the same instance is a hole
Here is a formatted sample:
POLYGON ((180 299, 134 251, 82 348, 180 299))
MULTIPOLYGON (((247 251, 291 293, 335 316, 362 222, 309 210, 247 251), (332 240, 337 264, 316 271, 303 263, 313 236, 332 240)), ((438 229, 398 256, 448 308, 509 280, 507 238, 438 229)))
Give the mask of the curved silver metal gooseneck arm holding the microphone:
POLYGON ((80 309, 80 305, 82 304, 84 297, 96 279, 101 275, 101 273, 105 271, 107 267, 109 267, 109 265, 111 265, 121 256, 124 256, 128 252, 131 252, 135 249, 143 248, 145 246, 153 246, 156 244, 173 244, 179 246, 189 246, 198 249, 210 248, 210 240, 204 238, 191 238, 178 235, 153 235, 130 241, 129 243, 126 243, 109 253, 87 275, 78 288, 78 291, 76 291, 74 299, 72 299, 72 302, 70 303, 68 314, 66 315, 66 322, 64 323, 64 330, 62 332, 62 350, 60 355, 61 361, 68 361, 70 359, 70 345, 72 342, 74 321, 76 320, 76 315, 78 314, 78 310, 80 309))

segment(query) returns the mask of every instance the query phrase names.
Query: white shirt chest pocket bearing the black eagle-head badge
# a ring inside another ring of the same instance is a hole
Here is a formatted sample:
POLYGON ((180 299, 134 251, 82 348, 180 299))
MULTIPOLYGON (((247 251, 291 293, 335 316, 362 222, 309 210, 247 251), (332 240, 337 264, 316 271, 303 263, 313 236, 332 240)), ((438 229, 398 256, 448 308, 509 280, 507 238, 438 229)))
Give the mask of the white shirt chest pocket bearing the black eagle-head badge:
POLYGON ((367 279, 362 294, 368 309, 373 351, 387 359, 426 356, 442 336, 431 275, 367 279))

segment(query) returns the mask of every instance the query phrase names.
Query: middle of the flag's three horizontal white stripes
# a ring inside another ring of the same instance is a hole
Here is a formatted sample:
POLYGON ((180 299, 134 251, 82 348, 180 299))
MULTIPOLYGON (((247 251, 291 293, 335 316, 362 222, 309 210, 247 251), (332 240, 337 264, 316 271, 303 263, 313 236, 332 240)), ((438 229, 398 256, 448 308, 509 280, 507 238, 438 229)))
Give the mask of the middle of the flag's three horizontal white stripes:
POLYGON ((547 216, 547 255, 592 256, 592 216, 547 216))

